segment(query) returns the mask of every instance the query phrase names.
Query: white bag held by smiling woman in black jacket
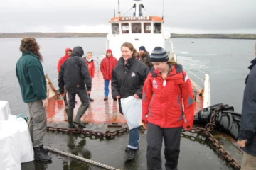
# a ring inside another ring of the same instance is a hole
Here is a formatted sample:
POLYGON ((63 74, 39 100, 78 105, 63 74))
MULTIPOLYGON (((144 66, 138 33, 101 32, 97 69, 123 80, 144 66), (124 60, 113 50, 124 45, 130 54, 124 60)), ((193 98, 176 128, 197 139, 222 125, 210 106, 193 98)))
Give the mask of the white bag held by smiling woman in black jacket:
POLYGON ((121 108, 130 130, 142 125, 142 99, 121 98, 121 108))

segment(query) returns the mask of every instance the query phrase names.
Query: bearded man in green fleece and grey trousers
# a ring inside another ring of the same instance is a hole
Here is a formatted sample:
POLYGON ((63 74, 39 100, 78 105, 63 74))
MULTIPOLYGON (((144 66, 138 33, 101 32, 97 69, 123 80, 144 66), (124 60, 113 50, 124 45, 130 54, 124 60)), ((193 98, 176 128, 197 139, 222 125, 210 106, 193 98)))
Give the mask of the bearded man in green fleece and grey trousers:
POLYGON ((20 51, 22 52, 16 64, 16 76, 21 87, 21 96, 29 108, 29 131, 33 142, 34 159, 49 161, 51 157, 43 148, 43 137, 46 134, 46 78, 35 38, 23 38, 20 51))

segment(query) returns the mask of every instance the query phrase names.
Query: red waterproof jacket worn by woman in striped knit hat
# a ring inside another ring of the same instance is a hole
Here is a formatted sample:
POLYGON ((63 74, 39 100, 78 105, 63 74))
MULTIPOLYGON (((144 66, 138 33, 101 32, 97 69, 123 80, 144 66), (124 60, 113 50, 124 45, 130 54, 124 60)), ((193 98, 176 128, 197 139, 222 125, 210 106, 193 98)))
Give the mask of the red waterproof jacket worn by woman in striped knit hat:
POLYGON ((152 69, 142 92, 142 123, 161 128, 193 127, 191 81, 181 65, 174 65, 165 79, 152 69))

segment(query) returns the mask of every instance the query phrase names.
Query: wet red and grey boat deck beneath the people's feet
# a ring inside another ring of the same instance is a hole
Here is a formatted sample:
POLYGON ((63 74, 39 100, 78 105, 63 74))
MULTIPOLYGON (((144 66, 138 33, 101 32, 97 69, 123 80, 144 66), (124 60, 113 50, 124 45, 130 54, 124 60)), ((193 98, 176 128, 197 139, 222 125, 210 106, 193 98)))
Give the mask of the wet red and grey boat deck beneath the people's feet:
MULTIPOLYGON (((193 84, 193 91, 196 91, 195 111, 196 114, 203 108, 203 98, 199 96, 200 89, 193 84)), ((90 108, 82 117, 82 121, 88 123, 85 130, 92 132, 106 131, 114 132, 122 128, 126 128, 124 117, 119 114, 117 101, 109 97, 108 101, 104 101, 103 79, 100 72, 95 72, 95 77, 92 81, 91 97, 95 99, 90 103, 90 108), (108 127, 107 123, 122 123, 122 126, 108 127)), ((77 98, 75 112, 80 105, 80 100, 77 98)), ((53 96, 49 100, 47 108, 48 126, 55 128, 67 128, 68 119, 65 114, 65 104, 63 99, 57 99, 53 96)), ((63 152, 78 155, 85 159, 91 159, 102 164, 112 166, 122 170, 144 170, 146 169, 146 131, 142 128, 139 130, 140 141, 139 150, 136 152, 135 159, 131 162, 124 162, 124 149, 129 140, 129 133, 123 132, 114 139, 95 138, 74 132, 57 132, 48 131, 44 138, 45 145, 58 149, 63 152)), ((220 141, 225 149, 238 159, 239 163, 242 160, 242 152, 236 149, 230 140, 223 133, 215 133, 214 135, 220 141)), ((27 162, 21 164, 22 170, 37 170, 37 169, 93 169, 100 170, 97 166, 87 164, 86 162, 78 161, 77 159, 64 157, 60 154, 50 153, 53 157, 51 162, 27 162)), ((164 167, 164 149, 162 149, 162 165, 164 167)), ((211 147, 209 140, 199 134, 190 132, 182 132, 181 134, 181 153, 178 160, 178 169, 233 169, 229 167, 223 159, 215 153, 211 147)))

